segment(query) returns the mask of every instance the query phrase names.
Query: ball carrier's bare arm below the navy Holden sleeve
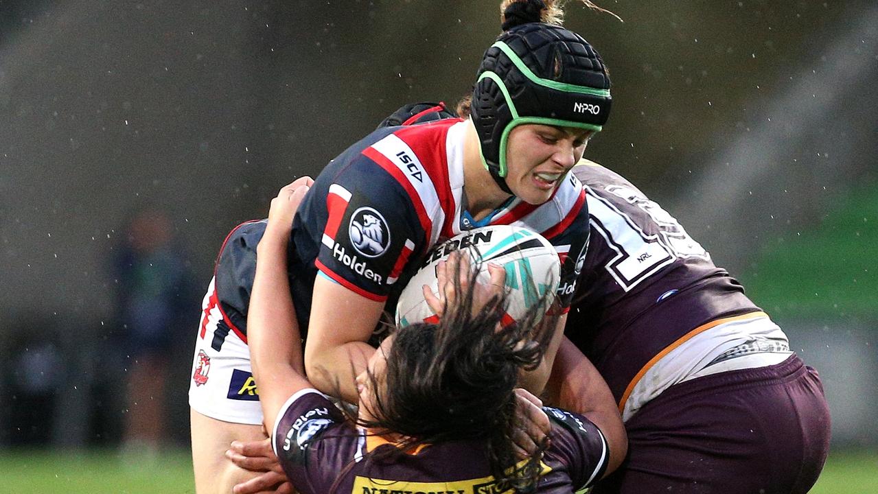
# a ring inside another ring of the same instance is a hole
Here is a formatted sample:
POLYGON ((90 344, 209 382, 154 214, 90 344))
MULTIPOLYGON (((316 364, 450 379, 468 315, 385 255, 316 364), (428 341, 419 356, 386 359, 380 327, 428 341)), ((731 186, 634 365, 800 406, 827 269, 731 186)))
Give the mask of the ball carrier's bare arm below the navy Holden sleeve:
POLYGON ((311 323, 305 342, 305 369, 314 386, 356 403, 356 376, 375 353, 369 340, 383 302, 362 297, 342 285, 317 276, 311 323))

